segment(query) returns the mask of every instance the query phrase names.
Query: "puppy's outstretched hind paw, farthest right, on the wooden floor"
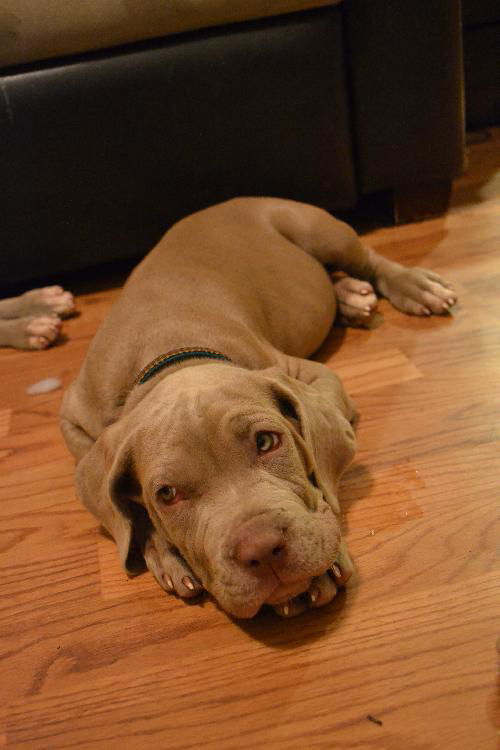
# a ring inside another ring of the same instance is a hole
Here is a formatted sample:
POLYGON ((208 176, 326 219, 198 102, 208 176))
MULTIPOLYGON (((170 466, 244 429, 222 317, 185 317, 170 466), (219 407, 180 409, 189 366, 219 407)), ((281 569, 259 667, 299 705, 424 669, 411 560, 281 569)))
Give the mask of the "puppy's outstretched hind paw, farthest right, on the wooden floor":
POLYGON ((453 286, 425 268, 401 267, 377 285, 394 307, 409 315, 444 315, 457 302, 453 286))

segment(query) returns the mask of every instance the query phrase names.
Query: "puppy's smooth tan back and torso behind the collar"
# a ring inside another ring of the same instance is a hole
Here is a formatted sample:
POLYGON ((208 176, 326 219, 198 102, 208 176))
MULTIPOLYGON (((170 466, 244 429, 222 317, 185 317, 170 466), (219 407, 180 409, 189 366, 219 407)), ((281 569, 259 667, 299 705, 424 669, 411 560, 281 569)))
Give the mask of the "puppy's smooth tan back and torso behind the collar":
POLYGON ((136 267, 66 399, 85 400, 87 419, 99 415, 90 434, 114 420, 142 367, 170 350, 208 347, 259 369, 276 364, 276 350, 307 357, 321 345, 335 314, 331 283, 274 228, 273 203, 240 198, 189 216, 136 267))

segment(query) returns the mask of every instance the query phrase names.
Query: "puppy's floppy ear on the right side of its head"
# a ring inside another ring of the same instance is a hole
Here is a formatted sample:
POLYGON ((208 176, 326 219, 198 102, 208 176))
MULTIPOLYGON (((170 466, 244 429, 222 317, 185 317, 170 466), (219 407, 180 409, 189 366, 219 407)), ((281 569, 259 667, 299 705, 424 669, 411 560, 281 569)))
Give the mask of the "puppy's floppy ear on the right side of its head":
POLYGON ((310 364, 319 373, 311 382, 272 368, 271 393, 281 413, 303 438, 313 481, 331 507, 339 512, 338 484, 356 450, 352 425, 357 412, 340 379, 324 365, 310 364))

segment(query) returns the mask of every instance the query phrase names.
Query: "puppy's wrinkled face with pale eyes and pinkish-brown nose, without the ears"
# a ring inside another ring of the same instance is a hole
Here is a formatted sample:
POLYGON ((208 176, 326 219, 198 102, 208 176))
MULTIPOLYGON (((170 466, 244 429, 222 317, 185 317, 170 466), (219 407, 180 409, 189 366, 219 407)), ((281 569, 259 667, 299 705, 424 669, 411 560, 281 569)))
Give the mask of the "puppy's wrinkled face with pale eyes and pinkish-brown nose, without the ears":
POLYGON ((257 373, 221 387, 219 366, 203 370, 165 379, 134 463, 156 528, 227 612, 252 617, 306 591, 340 530, 293 403, 257 373))

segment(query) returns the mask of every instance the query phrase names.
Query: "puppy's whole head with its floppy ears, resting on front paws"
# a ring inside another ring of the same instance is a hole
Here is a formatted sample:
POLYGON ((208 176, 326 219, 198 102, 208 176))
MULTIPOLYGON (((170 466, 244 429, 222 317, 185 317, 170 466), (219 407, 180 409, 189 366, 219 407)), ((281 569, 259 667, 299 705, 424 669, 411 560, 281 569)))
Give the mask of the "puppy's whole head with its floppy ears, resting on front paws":
POLYGON ((134 572, 140 555, 141 506, 230 614, 307 590, 338 551, 352 416, 340 381, 326 401, 277 368, 170 374, 99 438, 125 567, 134 572))

